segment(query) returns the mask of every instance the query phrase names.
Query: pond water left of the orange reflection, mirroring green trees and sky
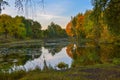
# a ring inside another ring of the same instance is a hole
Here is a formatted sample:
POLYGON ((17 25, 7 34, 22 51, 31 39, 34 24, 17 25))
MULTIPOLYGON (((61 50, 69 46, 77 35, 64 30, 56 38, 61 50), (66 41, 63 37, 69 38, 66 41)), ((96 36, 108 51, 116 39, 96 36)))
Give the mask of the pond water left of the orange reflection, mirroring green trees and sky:
POLYGON ((36 67, 43 69, 45 65, 54 68, 59 62, 65 62, 70 67, 72 62, 64 45, 1 48, 0 52, 0 71, 28 71, 36 67))

